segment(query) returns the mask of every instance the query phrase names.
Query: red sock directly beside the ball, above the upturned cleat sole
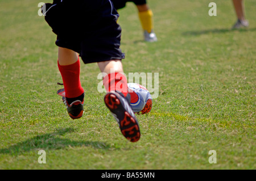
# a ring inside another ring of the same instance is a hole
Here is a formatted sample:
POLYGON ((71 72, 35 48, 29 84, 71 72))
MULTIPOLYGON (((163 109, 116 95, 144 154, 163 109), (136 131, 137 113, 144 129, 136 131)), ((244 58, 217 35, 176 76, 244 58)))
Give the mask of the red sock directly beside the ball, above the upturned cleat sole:
POLYGON ((122 73, 110 73, 103 78, 103 84, 107 92, 120 91, 127 95, 127 79, 122 73))

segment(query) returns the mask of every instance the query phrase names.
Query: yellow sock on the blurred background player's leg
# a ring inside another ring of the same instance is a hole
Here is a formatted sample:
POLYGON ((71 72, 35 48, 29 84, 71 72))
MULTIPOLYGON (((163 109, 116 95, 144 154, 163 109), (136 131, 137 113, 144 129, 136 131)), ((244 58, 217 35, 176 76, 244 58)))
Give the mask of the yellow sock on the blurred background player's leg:
POLYGON ((139 12, 139 20, 141 20, 143 30, 146 30, 148 33, 153 30, 153 12, 151 10, 139 12))

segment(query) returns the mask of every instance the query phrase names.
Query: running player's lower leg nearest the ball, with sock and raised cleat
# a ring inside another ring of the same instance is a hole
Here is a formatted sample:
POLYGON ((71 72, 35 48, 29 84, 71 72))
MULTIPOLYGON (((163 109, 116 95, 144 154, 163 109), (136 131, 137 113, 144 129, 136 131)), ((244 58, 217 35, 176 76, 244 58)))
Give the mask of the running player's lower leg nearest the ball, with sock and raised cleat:
POLYGON ((104 102, 112 112, 119 128, 131 142, 136 142, 141 137, 139 124, 133 110, 130 107, 130 94, 127 92, 127 79, 123 75, 121 60, 110 60, 98 62, 102 73, 104 86, 108 92, 104 97, 104 102))

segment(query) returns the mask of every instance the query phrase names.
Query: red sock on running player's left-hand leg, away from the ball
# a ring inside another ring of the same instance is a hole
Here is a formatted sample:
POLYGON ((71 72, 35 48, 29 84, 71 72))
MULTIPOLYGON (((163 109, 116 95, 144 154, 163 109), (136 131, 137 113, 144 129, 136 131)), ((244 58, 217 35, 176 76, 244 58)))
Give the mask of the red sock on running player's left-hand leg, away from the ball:
POLYGON ((71 65, 60 65, 58 60, 58 67, 63 79, 65 96, 76 98, 84 93, 80 82, 80 60, 71 65))

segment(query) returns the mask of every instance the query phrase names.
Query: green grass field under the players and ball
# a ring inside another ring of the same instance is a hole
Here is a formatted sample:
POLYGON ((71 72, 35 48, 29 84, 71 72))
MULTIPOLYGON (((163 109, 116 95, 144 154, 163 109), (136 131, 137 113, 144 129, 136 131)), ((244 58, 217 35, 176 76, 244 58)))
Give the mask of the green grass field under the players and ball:
POLYGON ((142 41, 133 4, 119 11, 125 73, 159 73, 136 143, 97 91, 97 64, 81 65, 85 113, 69 118, 56 94, 56 36, 39 2, 0 0, 0 169, 256 169, 256 1, 245 1, 250 27, 231 31, 232 1, 214 1, 209 16, 212 1, 148 0, 156 43, 142 41))

